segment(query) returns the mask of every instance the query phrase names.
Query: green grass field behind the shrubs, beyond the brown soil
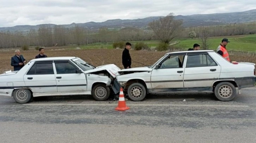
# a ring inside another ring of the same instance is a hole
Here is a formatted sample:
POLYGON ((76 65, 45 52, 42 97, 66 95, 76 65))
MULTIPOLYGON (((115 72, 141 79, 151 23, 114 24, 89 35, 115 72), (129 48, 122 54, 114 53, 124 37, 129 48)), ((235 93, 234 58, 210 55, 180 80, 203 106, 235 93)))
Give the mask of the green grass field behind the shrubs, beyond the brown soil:
MULTIPOLYGON (((236 35, 236 36, 223 36, 223 37, 211 37, 209 38, 209 48, 212 50, 216 50, 221 40, 223 38, 228 38, 230 43, 227 45, 228 51, 243 51, 243 52, 253 52, 256 53, 256 34, 251 35, 236 35)), ((151 41, 129 41, 134 46, 137 42, 144 42, 150 48, 155 48, 158 46, 158 40, 151 40, 151 41)), ((173 44, 175 48, 179 48, 182 50, 187 50, 188 48, 193 48, 194 43, 198 43, 199 45, 202 44, 200 38, 194 39, 173 39, 170 44, 173 44), (174 43, 174 44, 173 44, 174 43)), ((96 49, 96 48, 103 48, 103 49, 113 49, 113 43, 93 43, 89 45, 81 45, 81 46, 69 46, 69 50, 75 49, 77 47, 81 49, 96 49)))

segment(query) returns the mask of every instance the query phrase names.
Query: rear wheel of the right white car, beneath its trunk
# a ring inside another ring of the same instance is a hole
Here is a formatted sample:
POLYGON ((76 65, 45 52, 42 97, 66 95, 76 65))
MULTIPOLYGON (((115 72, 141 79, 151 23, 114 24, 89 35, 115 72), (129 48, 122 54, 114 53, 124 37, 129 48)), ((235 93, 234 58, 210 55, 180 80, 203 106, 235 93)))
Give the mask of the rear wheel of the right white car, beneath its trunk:
POLYGON ((236 92, 236 87, 230 82, 220 82, 214 89, 214 94, 220 101, 232 100, 236 92))

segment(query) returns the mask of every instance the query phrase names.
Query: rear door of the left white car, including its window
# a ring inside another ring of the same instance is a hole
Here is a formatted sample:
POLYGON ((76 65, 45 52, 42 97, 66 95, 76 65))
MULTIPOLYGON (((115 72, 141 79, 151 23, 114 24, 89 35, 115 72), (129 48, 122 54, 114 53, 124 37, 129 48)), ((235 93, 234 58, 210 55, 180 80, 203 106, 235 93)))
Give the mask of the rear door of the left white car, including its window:
POLYGON ((26 87, 33 93, 57 92, 53 61, 37 61, 23 76, 26 87))

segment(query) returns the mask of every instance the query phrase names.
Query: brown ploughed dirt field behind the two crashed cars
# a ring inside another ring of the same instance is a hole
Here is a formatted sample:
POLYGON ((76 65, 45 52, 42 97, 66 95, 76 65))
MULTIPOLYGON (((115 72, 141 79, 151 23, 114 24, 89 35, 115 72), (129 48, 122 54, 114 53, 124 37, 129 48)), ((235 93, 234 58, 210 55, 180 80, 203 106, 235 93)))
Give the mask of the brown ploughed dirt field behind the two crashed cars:
MULTIPOLYGON (((11 57, 15 55, 14 49, 0 50, 0 74, 7 70, 13 70, 11 66, 11 57)), ((38 54, 37 50, 31 49, 28 51, 21 50, 22 55, 27 61, 35 58, 38 54)), ((132 57, 132 67, 142 67, 143 64, 149 66, 155 63, 160 57, 167 52, 154 52, 154 51, 135 51, 130 50, 132 57), (143 64, 140 64, 140 63, 143 64)), ((119 68, 122 66, 122 49, 75 49, 65 50, 57 48, 45 48, 45 54, 48 57, 54 56, 77 56, 94 66, 101 66, 103 64, 116 64, 119 68)), ((252 62, 256 63, 256 56, 250 54, 232 53, 230 55, 231 61, 237 62, 252 62)))

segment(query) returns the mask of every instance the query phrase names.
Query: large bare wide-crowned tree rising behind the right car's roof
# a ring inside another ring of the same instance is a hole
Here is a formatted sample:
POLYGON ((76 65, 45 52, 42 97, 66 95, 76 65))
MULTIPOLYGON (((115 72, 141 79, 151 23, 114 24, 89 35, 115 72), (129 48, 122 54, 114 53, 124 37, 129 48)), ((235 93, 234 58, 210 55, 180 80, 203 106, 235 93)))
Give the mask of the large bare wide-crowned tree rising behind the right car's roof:
POLYGON ((182 20, 175 20, 173 13, 170 13, 159 20, 150 22, 148 26, 150 26, 161 42, 169 43, 173 38, 177 37, 182 29, 182 23, 182 20))

